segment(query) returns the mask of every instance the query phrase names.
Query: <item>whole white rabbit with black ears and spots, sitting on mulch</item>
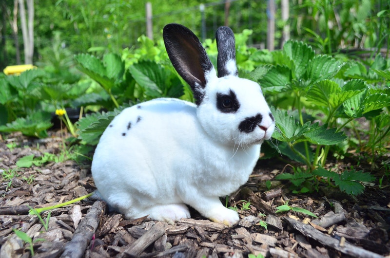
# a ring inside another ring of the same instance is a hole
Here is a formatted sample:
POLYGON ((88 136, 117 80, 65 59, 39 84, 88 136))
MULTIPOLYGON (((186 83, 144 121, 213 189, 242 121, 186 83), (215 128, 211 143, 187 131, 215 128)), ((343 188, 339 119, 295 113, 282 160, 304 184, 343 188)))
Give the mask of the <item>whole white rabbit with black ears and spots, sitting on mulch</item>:
POLYGON ((173 224, 190 218, 189 205, 233 225, 238 213, 219 197, 247 182, 261 144, 273 134, 273 115, 260 85, 238 77, 230 28, 216 31, 218 76, 191 30, 168 24, 163 38, 195 104, 157 98, 121 111, 94 153, 98 193, 126 219, 149 215, 173 224))

